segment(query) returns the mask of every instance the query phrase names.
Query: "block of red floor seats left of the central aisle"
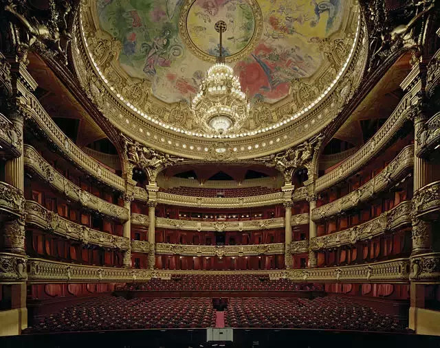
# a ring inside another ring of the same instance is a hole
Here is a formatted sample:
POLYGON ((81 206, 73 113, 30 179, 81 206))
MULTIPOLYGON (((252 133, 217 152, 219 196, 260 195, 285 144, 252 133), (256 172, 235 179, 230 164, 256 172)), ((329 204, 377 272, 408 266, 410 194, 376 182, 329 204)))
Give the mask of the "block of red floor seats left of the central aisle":
POLYGON ((42 318, 23 334, 115 329, 212 327, 215 312, 207 298, 131 299, 94 297, 42 318))

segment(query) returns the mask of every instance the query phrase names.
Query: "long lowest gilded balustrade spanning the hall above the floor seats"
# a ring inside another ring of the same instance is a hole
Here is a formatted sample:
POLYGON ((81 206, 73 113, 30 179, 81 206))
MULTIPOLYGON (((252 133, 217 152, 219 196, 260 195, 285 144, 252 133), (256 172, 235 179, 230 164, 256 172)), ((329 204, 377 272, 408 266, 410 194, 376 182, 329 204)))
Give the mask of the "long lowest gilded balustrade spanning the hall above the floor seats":
POLYGON ((408 283, 410 261, 406 258, 342 267, 294 270, 146 270, 67 264, 45 259, 28 259, 28 283, 148 281, 170 279, 172 275, 269 275, 270 279, 292 281, 408 283))

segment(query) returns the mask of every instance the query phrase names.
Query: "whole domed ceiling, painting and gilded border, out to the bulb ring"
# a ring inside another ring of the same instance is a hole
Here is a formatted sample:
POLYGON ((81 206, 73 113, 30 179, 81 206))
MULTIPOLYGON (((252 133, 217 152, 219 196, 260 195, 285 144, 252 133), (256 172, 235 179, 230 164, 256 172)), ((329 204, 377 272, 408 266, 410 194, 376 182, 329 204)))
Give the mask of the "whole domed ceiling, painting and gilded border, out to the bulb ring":
POLYGON ((214 24, 224 21, 222 54, 251 102, 248 121, 232 131, 249 135, 302 115, 342 76, 358 30, 356 3, 90 0, 82 24, 91 58, 118 97, 167 129, 205 136, 190 101, 219 56, 214 24))

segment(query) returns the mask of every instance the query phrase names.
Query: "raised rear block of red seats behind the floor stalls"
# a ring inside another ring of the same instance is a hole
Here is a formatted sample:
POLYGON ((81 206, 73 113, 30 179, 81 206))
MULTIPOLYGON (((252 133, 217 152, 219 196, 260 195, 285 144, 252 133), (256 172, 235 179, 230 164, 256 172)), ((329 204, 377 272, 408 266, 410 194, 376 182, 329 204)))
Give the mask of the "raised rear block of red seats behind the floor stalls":
POLYGON ((270 280, 259 275, 173 275, 171 279, 151 279, 127 283, 123 290, 163 291, 319 291, 320 284, 296 283, 289 279, 270 280))

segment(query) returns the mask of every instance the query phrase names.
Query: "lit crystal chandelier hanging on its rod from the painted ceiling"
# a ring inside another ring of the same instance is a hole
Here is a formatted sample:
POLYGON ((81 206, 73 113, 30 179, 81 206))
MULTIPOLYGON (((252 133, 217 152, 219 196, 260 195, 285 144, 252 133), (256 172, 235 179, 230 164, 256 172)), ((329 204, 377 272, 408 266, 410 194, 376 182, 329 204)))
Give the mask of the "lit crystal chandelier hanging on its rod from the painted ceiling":
POLYGON ((241 91, 239 78, 234 70, 224 63, 221 38, 226 23, 218 21, 215 30, 220 34, 220 54, 217 63, 208 71, 199 86, 199 92, 191 102, 191 110, 196 119, 201 120, 211 130, 220 135, 230 128, 238 130, 249 115, 250 104, 241 91))

